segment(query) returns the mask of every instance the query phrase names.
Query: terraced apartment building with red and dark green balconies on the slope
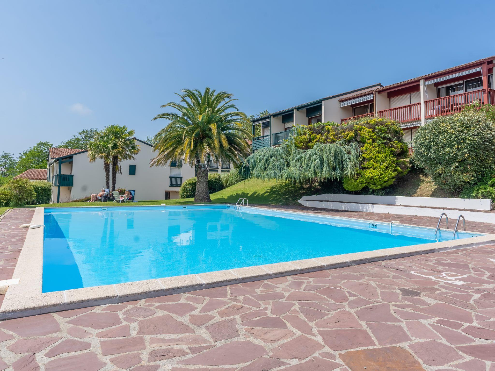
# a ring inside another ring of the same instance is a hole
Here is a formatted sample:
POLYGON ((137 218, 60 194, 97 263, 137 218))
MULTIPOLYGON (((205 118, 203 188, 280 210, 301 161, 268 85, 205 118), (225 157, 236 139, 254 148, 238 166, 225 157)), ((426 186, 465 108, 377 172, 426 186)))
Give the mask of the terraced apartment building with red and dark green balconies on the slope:
POLYGON ((412 153, 416 130, 427 120, 459 112, 475 101, 495 104, 494 60, 483 58, 388 86, 375 84, 258 117, 252 120, 253 134, 259 125, 261 136, 253 138, 252 150, 280 145, 295 124, 344 124, 377 116, 400 122, 412 153))

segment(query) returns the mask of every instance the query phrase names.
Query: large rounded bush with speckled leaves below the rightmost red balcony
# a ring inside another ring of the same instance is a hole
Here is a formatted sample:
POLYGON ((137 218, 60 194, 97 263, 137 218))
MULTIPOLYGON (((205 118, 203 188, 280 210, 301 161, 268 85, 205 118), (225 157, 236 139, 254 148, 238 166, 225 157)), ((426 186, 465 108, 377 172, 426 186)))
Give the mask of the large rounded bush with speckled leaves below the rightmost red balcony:
POLYGON ((419 127, 414 158, 439 187, 460 192, 495 169, 495 125, 484 112, 465 110, 419 127))

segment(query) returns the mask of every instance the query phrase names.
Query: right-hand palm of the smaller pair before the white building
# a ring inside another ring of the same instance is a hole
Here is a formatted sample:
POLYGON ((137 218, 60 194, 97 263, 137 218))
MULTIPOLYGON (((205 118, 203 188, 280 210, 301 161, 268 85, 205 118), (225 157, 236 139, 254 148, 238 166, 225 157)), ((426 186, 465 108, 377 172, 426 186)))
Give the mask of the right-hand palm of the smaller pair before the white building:
POLYGON ((103 129, 103 138, 108 142, 108 153, 111 160, 112 191, 117 183, 117 173, 122 174, 120 162, 134 160, 141 150, 134 138, 135 132, 125 125, 109 125, 103 129))

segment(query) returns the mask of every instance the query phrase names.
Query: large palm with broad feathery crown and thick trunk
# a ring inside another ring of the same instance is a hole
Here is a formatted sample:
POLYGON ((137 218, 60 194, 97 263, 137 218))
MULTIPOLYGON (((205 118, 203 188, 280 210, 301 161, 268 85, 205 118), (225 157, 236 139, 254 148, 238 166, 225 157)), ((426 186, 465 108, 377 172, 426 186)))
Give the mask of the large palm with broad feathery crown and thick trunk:
POLYGON ((158 154, 150 166, 167 165, 183 160, 196 166, 195 202, 211 202, 208 194, 208 163, 211 160, 241 162, 249 154, 251 133, 243 125, 249 122, 232 102, 233 94, 216 93, 206 88, 182 90, 180 102, 169 102, 161 108, 172 107, 178 112, 160 113, 153 120, 166 119, 169 124, 156 135, 153 150, 158 154))

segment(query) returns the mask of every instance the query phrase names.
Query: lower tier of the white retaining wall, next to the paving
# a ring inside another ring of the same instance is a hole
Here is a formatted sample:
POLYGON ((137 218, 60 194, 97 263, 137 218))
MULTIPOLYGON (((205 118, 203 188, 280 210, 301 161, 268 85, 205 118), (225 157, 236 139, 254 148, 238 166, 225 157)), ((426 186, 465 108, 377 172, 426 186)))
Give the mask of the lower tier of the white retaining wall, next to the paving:
MULTIPOLYGON (((309 201, 302 198, 298 202, 303 206, 319 207, 323 209, 362 211, 383 214, 418 215, 435 218, 439 218, 442 213, 446 213, 449 219, 449 227, 452 229, 454 228, 455 221, 459 215, 463 215, 464 218, 466 218, 466 221, 495 224, 495 213, 486 213, 480 211, 430 209, 428 207, 376 205, 352 202, 309 201)), ((373 217, 370 216, 370 218, 373 217)), ((442 223, 442 225, 444 225, 445 222, 442 223)), ((459 222, 459 230, 462 230, 462 221, 459 222)), ((467 227, 467 230, 469 230, 469 226, 467 227)))

